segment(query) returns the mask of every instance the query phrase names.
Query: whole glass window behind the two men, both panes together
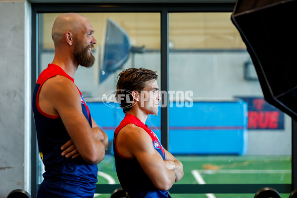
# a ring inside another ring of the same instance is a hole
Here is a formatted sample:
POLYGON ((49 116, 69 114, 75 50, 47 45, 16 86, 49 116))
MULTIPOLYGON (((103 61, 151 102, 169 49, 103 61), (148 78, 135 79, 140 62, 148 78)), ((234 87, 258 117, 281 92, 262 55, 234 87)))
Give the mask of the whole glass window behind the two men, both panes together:
MULTIPOLYGON (((160 13, 82 14, 95 29, 96 62, 92 68, 79 67, 74 79, 109 139, 105 158, 98 164, 98 184, 119 184, 112 141, 124 113, 108 97, 114 94, 118 73, 131 67, 156 71, 160 87, 160 13)), ((58 15, 38 14, 39 73, 54 56, 51 27, 58 15)), ((183 163, 185 173, 176 185, 291 184, 291 118, 263 99, 246 46, 230 17, 231 13, 169 13, 168 150, 183 163)), ((159 139, 160 117, 147 120, 159 139)), ((40 184, 41 161, 38 170, 40 184)))

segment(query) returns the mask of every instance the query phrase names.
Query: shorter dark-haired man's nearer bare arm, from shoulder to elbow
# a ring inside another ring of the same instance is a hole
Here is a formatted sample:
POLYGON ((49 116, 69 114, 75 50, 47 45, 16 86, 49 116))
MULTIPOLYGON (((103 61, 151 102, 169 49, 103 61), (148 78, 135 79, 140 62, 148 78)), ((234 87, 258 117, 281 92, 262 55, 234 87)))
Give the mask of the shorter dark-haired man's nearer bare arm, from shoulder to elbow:
POLYGON ((157 189, 170 189, 176 180, 175 173, 166 167, 161 155, 153 148, 149 135, 133 124, 120 132, 116 139, 118 151, 124 156, 136 157, 157 189))

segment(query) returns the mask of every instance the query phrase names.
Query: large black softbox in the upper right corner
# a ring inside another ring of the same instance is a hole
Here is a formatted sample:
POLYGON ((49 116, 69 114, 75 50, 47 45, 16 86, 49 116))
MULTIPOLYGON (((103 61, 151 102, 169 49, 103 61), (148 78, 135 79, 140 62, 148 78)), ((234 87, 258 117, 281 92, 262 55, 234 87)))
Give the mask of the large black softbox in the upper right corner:
POLYGON ((237 0, 231 20, 255 67, 264 99, 297 120, 297 0, 237 0))

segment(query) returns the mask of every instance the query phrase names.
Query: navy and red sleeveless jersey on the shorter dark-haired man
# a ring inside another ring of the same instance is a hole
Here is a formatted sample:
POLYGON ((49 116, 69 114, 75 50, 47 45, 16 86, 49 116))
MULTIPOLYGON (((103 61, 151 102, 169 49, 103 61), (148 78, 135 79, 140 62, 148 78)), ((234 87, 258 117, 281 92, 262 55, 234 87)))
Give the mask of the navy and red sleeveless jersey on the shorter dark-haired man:
POLYGON ((115 140, 118 132, 127 124, 134 124, 143 128, 152 140, 152 147, 165 159, 165 151, 156 135, 136 116, 126 113, 120 125, 116 128, 113 138, 115 167, 118 179, 128 198, 168 198, 167 191, 157 189, 150 181, 135 157, 121 155, 116 147, 115 140))

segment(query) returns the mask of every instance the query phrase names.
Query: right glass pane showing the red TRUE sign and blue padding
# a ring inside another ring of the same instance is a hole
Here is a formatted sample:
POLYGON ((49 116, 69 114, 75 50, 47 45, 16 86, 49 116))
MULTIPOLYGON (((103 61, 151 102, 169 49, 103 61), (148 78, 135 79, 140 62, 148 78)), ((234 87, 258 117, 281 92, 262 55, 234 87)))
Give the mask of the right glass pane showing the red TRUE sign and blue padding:
POLYGON ((263 99, 230 17, 169 14, 169 151, 184 164, 180 183, 290 184, 291 119, 263 99))

